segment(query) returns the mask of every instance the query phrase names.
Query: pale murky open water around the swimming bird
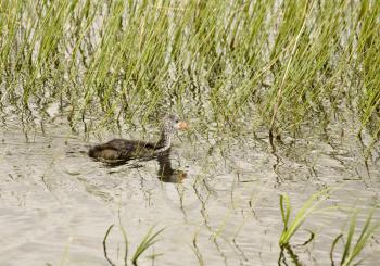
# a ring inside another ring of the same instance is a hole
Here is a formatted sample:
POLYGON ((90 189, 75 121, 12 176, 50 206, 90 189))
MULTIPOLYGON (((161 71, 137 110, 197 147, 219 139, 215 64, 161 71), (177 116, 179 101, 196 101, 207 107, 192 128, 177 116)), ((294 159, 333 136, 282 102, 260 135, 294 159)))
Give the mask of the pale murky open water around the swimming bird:
MULTIPOLYGON (((165 227, 139 265, 331 265, 331 244, 349 212, 309 216, 282 256, 279 194, 289 193, 294 212, 316 191, 339 187, 321 206, 364 210, 362 227, 366 210, 379 206, 380 154, 375 147, 365 160, 351 127, 284 137, 275 151, 266 130, 217 138, 210 128, 210 136, 179 134, 168 157, 110 167, 86 154, 100 140, 84 141, 64 118, 43 130, 30 126, 27 137, 20 121, 7 118, 0 128, 1 265, 110 265, 102 241, 112 224, 106 251, 116 265, 124 265, 121 224, 129 258, 152 226, 165 227), (315 238, 302 245, 307 230, 315 238)), ((154 138, 151 129, 147 138, 154 138)), ((112 137, 119 136, 101 140, 112 137)), ((379 241, 378 232, 363 265, 378 265, 379 241)), ((341 252, 338 244, 337 262, 341 252)))

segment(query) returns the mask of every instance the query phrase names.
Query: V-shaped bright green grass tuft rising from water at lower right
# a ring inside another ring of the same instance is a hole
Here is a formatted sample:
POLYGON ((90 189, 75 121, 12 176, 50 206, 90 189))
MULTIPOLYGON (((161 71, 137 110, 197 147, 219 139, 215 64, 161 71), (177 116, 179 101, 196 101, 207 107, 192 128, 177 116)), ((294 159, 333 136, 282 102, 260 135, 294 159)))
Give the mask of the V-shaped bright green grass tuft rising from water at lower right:
POLYGON ((280 246, 289 244, 290 239, 305 221, 306 217, 316 211, 316 207, 331 193, 332 189, 325 189, 313 194, 290 221, 291 204, 287 194, 280 195, 280 210, 283 229, 279 240, 280 246))

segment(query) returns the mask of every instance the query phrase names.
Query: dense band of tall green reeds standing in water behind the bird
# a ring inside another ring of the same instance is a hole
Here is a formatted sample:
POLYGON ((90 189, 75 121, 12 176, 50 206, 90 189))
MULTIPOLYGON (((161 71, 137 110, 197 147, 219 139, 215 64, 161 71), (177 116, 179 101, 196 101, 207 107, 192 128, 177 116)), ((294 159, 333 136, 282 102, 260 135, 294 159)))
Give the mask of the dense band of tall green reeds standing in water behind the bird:
POLYGON ((75 126, 172 105, 274 134, 350 110, 376 141, 379 14, 376 0, 4 0, 1 107, 59 103, 75 126))

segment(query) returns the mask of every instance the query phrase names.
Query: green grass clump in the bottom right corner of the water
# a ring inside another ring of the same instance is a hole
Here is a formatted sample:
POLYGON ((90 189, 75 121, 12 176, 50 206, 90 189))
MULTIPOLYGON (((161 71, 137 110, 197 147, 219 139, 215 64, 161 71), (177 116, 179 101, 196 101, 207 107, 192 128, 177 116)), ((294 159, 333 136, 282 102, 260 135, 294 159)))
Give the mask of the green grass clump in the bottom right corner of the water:
MULTIPOLYGON (((357 224, 358 211, 355 211, 352 214, 350 227, 349 227, 349 230, 346 233, 346 241, 345 241, 345 243, 343 243, 344 251, 342 254, 340 265, 342 265, 342 266, 352 265, 354 263, 354 261, 360 255, 363 249, 368 243, 369 238, 380 227, 379 221, 372 223, 373 212, 375 212, 375 208, 371 210, 370 213, 368 214, 367 220, 362 229, 359 238, 356 240, 356 243, 354 243, 353 238, 354 238, 354 233, 355 233, 356 227, 357 227, 356 224, 357 224)), ((342 238, 343 238, 343 235, 339 235, 335 238, 335 240, 333 241, 333 244, 331 248, 331 255, 330 255, 332 264, 333 264, 333 259, 332 259, 333 250, 334 250, 338 241, 342 238)))

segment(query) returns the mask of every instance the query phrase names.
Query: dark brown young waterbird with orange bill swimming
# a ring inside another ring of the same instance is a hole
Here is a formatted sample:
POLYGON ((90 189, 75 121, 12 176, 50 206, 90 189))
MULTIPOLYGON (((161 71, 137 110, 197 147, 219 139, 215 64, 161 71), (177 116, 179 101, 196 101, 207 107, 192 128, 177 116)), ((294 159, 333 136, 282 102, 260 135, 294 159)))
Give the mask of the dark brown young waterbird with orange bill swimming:
POLYGON ((167 115, 164 118, 161 138, 157 142, 139 140, 113 139, 106 143, 94 145, 89 151, 89 156, 98 160, 129 160, 137 157, 150 157, 168 151, 174 134, 188 128, 186 122, 180 122, 177 115, 167 115))

